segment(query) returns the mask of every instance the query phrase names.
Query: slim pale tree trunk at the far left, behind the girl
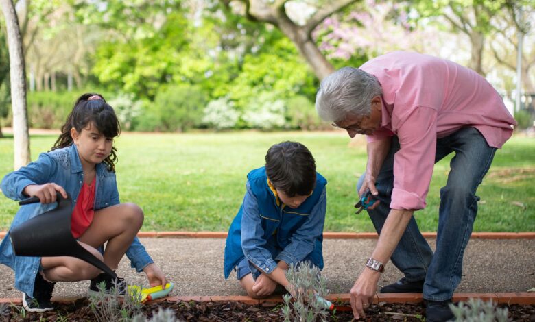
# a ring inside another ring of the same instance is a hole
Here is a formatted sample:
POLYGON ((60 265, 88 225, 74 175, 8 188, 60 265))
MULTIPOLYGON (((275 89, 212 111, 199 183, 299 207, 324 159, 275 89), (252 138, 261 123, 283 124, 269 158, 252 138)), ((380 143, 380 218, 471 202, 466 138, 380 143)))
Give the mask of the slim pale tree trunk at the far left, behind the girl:
POLYGON ((24 53, 12 0, 0 0, 10 52, 11 107, 13 110, 14 169, 25 166, 30 161, 28 116, 26 110, 26 75, 24 53))

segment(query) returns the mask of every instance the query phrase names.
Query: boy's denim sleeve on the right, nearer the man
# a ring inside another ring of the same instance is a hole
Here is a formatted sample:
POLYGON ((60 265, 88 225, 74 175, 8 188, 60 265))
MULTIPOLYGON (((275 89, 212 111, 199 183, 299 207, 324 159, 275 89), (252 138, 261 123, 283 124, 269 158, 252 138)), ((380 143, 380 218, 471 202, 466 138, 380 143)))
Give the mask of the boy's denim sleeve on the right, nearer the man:
POLYGON ((316 240, 323 234, 326 208, 327 193, 326 188, 323 188, 320 199, 312 208, 307 221, 292 235, 290 243, 278 254, 275 260, 296 264, 304 260, 314 250, 316 240))

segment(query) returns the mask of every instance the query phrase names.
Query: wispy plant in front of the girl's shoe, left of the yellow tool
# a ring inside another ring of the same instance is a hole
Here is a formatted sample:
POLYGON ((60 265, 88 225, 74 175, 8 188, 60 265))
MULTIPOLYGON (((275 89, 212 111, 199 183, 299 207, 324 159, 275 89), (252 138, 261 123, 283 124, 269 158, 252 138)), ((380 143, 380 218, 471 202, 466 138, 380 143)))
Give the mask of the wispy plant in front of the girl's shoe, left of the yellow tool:
MULTIPOLYGON (((98 285, 98 293, 89 296, 90 308, 97 321, 130 321, 141 314, 141 293, 120 295, 117 287, 106 293, 105 283, 98 285)), ((141 288, 139 288, 141 289, 141 288)))

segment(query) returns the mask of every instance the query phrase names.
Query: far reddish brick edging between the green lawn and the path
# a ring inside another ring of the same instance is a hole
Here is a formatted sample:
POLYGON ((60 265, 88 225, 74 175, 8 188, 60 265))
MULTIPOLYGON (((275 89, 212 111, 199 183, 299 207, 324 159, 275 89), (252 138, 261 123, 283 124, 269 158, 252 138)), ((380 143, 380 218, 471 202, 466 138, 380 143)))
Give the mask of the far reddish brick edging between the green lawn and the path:
MULTIPOLYGON (((425 238, 436 238, 436 232, 423 232, 425 238)), ((143 238, 226 238, 226 232, 139 232, 143 238)), ((375 232, 324 232, 325 239, 375 239, 375 232)), ((5 232, 0 232, 0 238, 5 232)), ((474 239, 535 239, 535 232, 474 232, 474 239)))

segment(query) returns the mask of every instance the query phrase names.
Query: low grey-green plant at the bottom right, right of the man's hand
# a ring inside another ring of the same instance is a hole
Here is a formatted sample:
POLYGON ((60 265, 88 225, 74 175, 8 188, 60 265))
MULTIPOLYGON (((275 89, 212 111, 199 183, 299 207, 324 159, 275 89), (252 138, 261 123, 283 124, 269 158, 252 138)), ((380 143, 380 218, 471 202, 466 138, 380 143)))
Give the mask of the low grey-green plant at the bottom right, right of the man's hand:
POLYGON ((508 309, 497 308, 492 301, 469 299, 467 303, 459 302, 457 306, 449 305, 456 321, 466 322, 506 322, 508 309))

